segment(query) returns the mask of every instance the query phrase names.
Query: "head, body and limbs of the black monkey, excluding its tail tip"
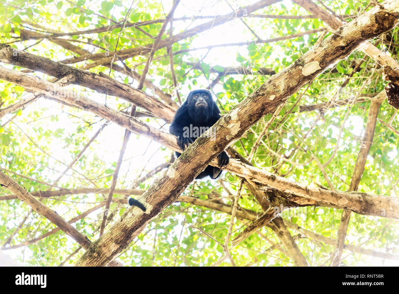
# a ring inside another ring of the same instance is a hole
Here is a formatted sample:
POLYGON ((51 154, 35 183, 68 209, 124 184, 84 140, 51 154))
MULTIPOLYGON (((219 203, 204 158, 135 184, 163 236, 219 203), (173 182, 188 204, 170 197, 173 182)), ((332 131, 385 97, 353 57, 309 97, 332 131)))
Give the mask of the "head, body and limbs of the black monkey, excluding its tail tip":
MULTIPOLYGON (((212 95, 208 90, 194 90, 188 94, 187 100, 176 111, 173 122, 170 125, 169 132, 177 137, 177 142, 182 150, 186 149, 196 138, 201 136, 202 132, 192 132, 189 136, 185 134, 184 128, 197 128, 201 130, 203 127, 211 127, 220 118, 219 108, 215 101, 212 100, 212 95)), ((181 153, 175 152, 176 157, 181 153)), ((219 167, 225 166, 229 163, 229 156, 225 151, 218 156, 219 167)), ((202 179, 210 176, 215 179, 220 176, 221 169, 213 166, 207 166, 196 179, 202 179)))

